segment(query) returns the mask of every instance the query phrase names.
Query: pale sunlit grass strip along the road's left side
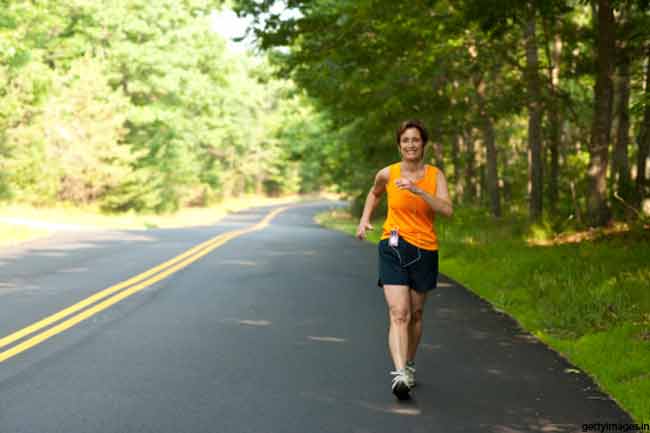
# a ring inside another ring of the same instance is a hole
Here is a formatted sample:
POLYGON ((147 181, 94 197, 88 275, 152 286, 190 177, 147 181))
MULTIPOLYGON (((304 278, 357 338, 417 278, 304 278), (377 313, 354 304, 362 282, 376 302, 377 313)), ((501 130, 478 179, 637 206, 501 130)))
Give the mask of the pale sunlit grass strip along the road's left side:
POLYGON ((185 208, 173 214, 138 214, 135 212, 123 214, 103 214, 96 207, 58 206, 35 208, 25 205, 0 206, 0 217, 12 220, 22 220, 26 224, 10 224, 0 221, 0 246, 15 245, 27 240, 47 236, 56 230, 30 226, 30 222, 45 224, 64 224, 80 228, 100 229, 150 229, 191 227, 214 224, 228 213, 255 206, 278 205, 314 200, 320 196, 286 196, 269 198, 256 195, 242 196, 225 200, 216 206, 208 208, 185 208))

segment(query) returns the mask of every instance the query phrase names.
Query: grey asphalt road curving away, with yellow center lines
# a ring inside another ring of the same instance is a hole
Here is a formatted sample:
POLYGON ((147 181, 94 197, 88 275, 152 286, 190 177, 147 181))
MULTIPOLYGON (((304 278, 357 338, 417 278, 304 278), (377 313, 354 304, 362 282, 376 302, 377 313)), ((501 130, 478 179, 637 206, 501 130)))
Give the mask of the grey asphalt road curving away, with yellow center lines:
MULTIPOLYGON (((576 432, 631 422, 587 376, 444 277, 425 308, 419 386, 397 402, 376 247, 316 225, 328 206, 292 207, 0 362, 0 433, 576 432)), ((0 338, 270 210, 2 250, 0 338)))

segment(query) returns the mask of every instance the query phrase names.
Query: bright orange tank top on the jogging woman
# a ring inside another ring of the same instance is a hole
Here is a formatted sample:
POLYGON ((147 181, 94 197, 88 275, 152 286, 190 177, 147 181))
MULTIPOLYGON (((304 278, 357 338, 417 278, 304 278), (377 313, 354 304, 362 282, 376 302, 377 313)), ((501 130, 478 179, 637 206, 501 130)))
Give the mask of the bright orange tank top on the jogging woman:
MULTIPOLYGON (((424 166, 424 178, 416 185, 432 197, 436 196, 436 179, 438 170, 431 166, 424 166)), ((436 251, 438 237, 434 226, 435 212, 422 197, 412 192, 399 189, 395 181, 401 177, 401 163, 390 166, 390 178, 386 185, 388 195, 388 215, 384 222, 382 239, 390 237, 393 228, 399 230, 400 238, 423 250, 436 251)))

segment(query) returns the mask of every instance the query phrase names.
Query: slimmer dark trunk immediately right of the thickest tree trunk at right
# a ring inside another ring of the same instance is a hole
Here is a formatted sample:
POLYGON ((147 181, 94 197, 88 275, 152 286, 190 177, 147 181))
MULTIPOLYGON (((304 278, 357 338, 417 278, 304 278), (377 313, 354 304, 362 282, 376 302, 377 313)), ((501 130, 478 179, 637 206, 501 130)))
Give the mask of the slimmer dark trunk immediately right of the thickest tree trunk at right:
MULTIPOLYGON (((621 14, 621 26, 627 30, 627 17, 629 4, 621 14)), ((630 164, 628 159, 628 146, 630 143, 630 53, 627 47, 627 36, 621 37, 618 46, 618 74, 616 76, 617 99, 617 128, 616 143, 612 157, 612 175, 616 180, 619 195, 629 201, 632 196, 632 185, 630 179, 630 164)))

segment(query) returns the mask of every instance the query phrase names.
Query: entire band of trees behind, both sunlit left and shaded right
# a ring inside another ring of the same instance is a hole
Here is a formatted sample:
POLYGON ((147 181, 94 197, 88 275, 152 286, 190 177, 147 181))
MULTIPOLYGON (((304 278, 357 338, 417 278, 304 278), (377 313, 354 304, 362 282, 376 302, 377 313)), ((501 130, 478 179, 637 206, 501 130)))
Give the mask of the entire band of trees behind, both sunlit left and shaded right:
POLYGON ((648 1, 238 0, 245 54, 211 28, 221 3, 0 1, 0 199, 358 202, 418 118, 456 203, 647 219, 648 1))

